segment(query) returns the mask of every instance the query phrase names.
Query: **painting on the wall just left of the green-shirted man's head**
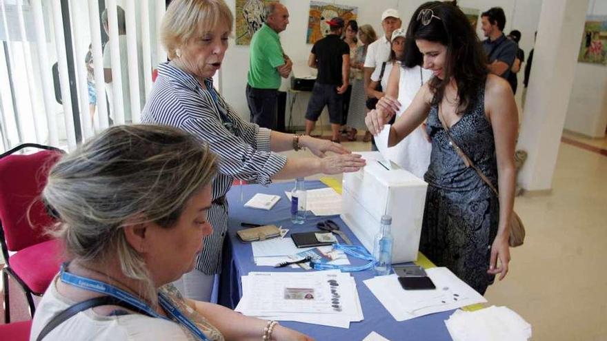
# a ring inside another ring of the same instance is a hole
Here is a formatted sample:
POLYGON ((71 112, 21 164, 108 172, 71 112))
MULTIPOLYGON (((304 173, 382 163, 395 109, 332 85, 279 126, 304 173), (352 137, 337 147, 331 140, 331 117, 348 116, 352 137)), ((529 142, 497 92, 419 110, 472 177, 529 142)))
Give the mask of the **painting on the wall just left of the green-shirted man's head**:
POLYGON ((236 45, 249 45, 266 20, 266 5, 278 0, 236 0, 236 45))

